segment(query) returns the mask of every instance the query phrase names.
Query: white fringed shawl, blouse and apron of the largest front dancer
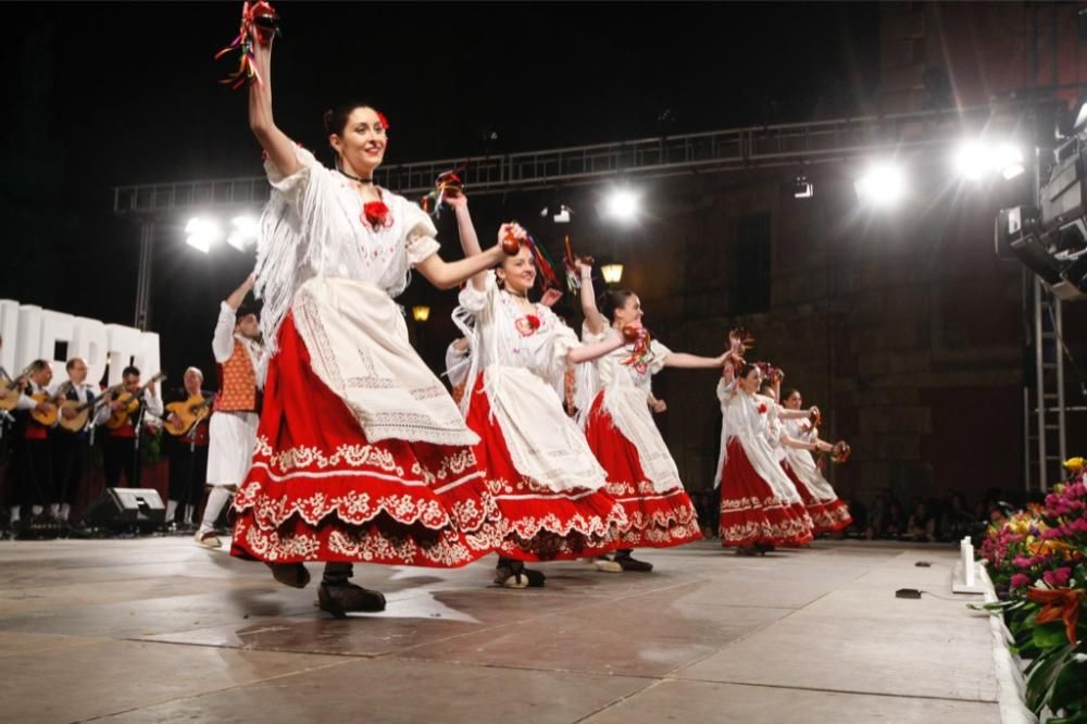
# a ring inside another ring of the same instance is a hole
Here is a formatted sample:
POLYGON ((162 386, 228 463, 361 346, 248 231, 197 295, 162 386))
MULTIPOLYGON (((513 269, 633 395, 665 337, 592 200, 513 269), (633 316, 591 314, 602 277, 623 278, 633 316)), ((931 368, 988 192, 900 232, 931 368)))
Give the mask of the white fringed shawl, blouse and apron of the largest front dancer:
POLYGON ((345 177, 303 149, 283 177, 265 164, 272 198, 261 220, 257 294, 263 383, 288 310, 314 373, 351 410, 370 441, 475 445, 452 398, 408 341, 392 297, 410 269, 438 250, 434 225, 407 199, 383 191, 388 226, 361 220, 362 200, 345 177))

